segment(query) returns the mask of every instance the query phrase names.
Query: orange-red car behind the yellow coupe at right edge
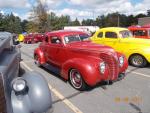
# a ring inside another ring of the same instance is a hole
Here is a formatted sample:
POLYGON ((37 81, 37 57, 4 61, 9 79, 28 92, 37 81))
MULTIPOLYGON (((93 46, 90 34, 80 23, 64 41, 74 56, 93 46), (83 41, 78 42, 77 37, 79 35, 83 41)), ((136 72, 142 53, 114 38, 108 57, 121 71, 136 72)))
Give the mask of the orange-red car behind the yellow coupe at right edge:
POLYGON ((128 29, 132 32, 135 38, 150 39, 150 27, 131 26, 131 27, 128 27, 128 29))

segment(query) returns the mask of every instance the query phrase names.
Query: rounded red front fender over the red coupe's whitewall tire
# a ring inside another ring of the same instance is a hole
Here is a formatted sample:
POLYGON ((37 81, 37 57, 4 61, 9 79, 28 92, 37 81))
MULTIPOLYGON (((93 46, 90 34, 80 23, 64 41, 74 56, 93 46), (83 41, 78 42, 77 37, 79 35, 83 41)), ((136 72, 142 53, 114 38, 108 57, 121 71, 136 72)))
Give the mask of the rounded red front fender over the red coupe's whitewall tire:
POLYGON ((100 73, 98 70, 98 64, 100 59, 81 59, 74 58, 65 62, 62 66, 61 75, 65 79, 69 79, 69 71, 73 68, 78 69, 84 79, 84 81, 89 85, 95 85, 97 80, 100 80, 100 73))

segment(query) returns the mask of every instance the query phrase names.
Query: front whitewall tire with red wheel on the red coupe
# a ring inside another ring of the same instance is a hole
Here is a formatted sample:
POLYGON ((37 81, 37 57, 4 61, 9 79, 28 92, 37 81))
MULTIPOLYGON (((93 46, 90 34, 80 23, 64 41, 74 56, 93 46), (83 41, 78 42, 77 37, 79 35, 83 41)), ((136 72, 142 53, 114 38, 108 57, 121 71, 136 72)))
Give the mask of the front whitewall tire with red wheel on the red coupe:
POLYGON ((73 88, 80 90, 80 91, 86 90, 88 88, 88 85, 85 83, 84 79, 82 78, 82 75, 77 69, 70 70, 69 82, 73 86, 73 88))

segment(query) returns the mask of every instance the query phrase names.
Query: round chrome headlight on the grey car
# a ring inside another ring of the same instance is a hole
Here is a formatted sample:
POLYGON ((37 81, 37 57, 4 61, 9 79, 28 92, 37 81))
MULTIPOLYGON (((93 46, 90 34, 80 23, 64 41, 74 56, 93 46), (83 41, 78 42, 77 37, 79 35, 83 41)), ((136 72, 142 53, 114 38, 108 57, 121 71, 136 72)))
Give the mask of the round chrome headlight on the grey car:
POLYGON ((12 81, 12 89, 17 94, 23 94, 27 88, 27 83, 22 77, 18 77, 12 81))

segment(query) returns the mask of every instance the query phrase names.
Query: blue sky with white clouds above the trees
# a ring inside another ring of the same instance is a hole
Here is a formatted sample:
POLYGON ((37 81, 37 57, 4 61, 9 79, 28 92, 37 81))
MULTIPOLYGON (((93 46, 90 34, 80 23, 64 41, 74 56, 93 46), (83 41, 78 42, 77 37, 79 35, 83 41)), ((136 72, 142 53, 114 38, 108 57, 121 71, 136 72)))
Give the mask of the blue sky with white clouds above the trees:
MULTIPOLYGON (((95 19, 112 12, 126 15, 145 13, 150 9, 150 0, 41 0, 48 12, 70 15, 71 19, 95 19)), ((0 12, 13 13, 22 20, 28 19, 36 0, 0 0, 0 12)))

